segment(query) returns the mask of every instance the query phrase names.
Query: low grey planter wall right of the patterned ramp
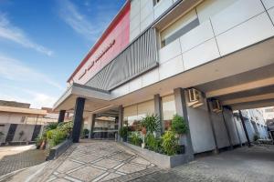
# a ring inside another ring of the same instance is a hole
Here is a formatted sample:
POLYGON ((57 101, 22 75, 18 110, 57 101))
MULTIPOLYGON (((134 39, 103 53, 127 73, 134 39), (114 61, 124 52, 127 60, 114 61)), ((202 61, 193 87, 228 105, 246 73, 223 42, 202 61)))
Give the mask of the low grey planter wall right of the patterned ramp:
POLYGON ((166 156, 163 154, 159 154, 156 152, 153 152, 151 150, 137 147, 132 144, 122 142, 122 144, 126 147, 132 148, 136 153, 145 159, 153 162, 153 164, 157 165, 158 167, 163 168, 173 168, 180 165, 184 165, 185 163, 189 162, 191 160, 190 157, 188 157, 185 154, 182 155, 174 155, 174 156, 166 156))

